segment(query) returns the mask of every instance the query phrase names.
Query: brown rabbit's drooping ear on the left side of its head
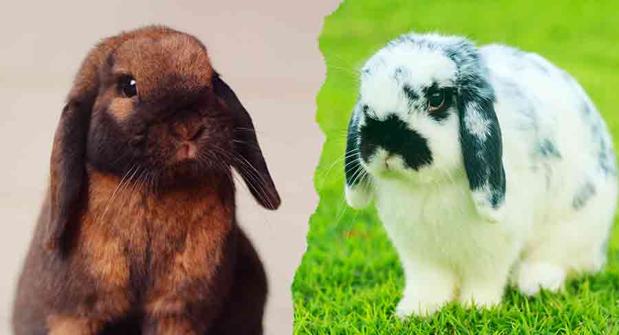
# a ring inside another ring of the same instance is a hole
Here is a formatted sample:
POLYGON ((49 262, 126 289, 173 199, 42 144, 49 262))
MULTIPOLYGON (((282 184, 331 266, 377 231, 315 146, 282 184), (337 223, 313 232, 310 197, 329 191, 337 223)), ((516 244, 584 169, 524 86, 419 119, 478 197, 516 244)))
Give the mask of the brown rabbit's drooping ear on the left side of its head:
POLYGON ((52 147, 50 220, 45 231, 47 249, 61 246, 69 220, 79 209, 86 179, 86 137, 90 108, 69 101, 63 109, 52 147))

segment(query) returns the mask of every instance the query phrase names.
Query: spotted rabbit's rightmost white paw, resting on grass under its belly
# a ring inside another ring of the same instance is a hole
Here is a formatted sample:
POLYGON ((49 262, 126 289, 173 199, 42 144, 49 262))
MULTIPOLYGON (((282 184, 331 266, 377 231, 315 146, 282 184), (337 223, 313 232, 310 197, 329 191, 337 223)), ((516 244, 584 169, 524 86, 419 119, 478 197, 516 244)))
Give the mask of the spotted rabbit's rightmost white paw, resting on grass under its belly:
POLYGON ((547 263, 523 263, 518 273, 518 288, 523 294, 535 295, 540 288, 556 292, 565 283, 565 269, 547 263))

